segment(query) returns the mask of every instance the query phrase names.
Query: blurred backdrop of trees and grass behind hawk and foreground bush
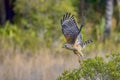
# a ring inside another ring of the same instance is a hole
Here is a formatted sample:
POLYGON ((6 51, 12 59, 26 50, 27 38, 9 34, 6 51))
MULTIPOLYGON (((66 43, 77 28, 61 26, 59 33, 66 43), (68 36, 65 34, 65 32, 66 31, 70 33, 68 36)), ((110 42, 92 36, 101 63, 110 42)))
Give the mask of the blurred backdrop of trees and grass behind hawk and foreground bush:
POLYGON ((55 80, 79 67, 66 42, 60 19, 66 12, 85 24, 83 41, 92 39, 88 57, 120 52, 120 0, 0 0, 0 80, 55 80))

